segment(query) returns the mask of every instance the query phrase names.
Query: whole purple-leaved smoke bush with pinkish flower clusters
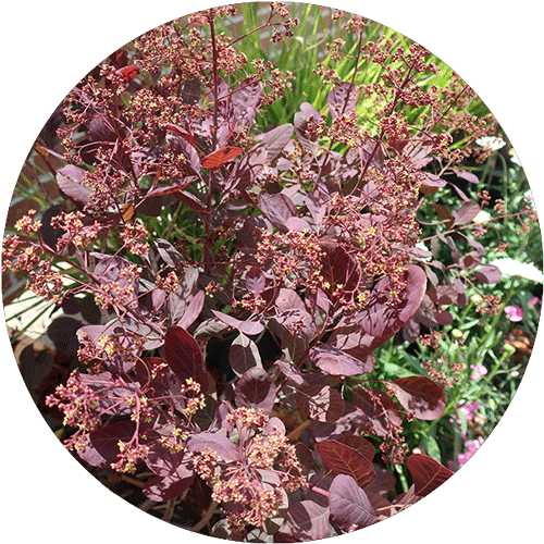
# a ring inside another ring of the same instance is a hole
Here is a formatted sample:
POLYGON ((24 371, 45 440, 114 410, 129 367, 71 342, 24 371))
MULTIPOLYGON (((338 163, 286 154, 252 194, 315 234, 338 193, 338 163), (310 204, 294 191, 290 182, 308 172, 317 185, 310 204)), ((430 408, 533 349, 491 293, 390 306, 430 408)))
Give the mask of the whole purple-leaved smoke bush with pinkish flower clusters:
MULTIPOLYGON (((151 471, 143 492, 161 503, 206 484, 195 530, 317 540, 452 475, 409 455, 403 422, 440 418, 462 369, 437 353, 425 375, 384 382, 374 353, 397 334, 437 346, 467 284, 499 280, 473 222, 490 196, 463 191, 496 122, 470 113, 478 97, 455 73, 438 78, 422 47, 369 40, 369 22, 338 12, 356 44, 348 76, 336 39, 314 69, 326 106, 267 126, 293 75, 248 61, 244 38, 288 40, 297 21, 272 3, 234 39, 218 29, 233 14, 156 28, 72 90, 60 140, 34 149, 62 201, 18 222, 3 269, 63 308, 90 294, 101 310, 77 332, 79 369, 47 399, 83 461, 151 471), (456 209, 435 198, 448 189, 456 209)), ((482 311, 499 305, 483 294, 482 311)))

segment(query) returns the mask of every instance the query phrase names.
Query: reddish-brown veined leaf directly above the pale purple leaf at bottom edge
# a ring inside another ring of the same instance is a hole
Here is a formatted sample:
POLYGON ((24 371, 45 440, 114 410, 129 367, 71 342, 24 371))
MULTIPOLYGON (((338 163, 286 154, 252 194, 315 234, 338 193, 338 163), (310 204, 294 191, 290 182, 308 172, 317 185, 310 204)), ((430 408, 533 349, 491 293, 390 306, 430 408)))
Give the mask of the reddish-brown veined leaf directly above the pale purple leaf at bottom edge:
POLYGON ((358 449, 336 440, 318 442, 316 447, 324 466, 336 474, 350 475, 359 487, 370 485, 374 481, 372 461, 358 449))

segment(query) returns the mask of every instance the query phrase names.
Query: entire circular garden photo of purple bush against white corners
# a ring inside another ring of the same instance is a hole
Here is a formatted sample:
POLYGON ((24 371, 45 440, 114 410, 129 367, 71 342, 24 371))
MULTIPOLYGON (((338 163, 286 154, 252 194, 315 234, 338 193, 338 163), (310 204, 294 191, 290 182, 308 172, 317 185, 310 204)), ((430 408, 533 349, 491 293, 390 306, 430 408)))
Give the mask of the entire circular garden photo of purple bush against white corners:
POLYGON ((363 530, 453 477, 523 376, 542 269, 523 169, 462 78, 361 15, 275 2, 94 67, 29 150, 2 249, 66 462, 244 542, 363 530))

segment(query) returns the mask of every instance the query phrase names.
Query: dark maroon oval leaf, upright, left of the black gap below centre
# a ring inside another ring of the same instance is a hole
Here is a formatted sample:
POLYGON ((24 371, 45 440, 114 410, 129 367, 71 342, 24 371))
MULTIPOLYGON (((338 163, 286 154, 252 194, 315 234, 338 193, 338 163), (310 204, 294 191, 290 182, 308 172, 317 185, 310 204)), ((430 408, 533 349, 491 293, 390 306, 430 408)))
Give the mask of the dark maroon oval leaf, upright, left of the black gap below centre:
POLYGON ((172 372, 185 382, 193 379, 208 388, 208 374, 206 364, 197 341, 177 325, 172 325, 164 336, 164 355, 172 372))

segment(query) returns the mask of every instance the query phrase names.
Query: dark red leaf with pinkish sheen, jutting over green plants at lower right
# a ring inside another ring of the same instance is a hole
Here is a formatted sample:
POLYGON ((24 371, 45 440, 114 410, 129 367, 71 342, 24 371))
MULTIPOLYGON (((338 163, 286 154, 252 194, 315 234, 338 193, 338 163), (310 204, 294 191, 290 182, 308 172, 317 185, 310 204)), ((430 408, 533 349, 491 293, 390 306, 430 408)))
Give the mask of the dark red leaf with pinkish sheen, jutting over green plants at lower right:
POLYGON ((444 390, 429 378, 415 375, 390 382, 401 406, 423 420, 438 419, 446 408, 444 390))

